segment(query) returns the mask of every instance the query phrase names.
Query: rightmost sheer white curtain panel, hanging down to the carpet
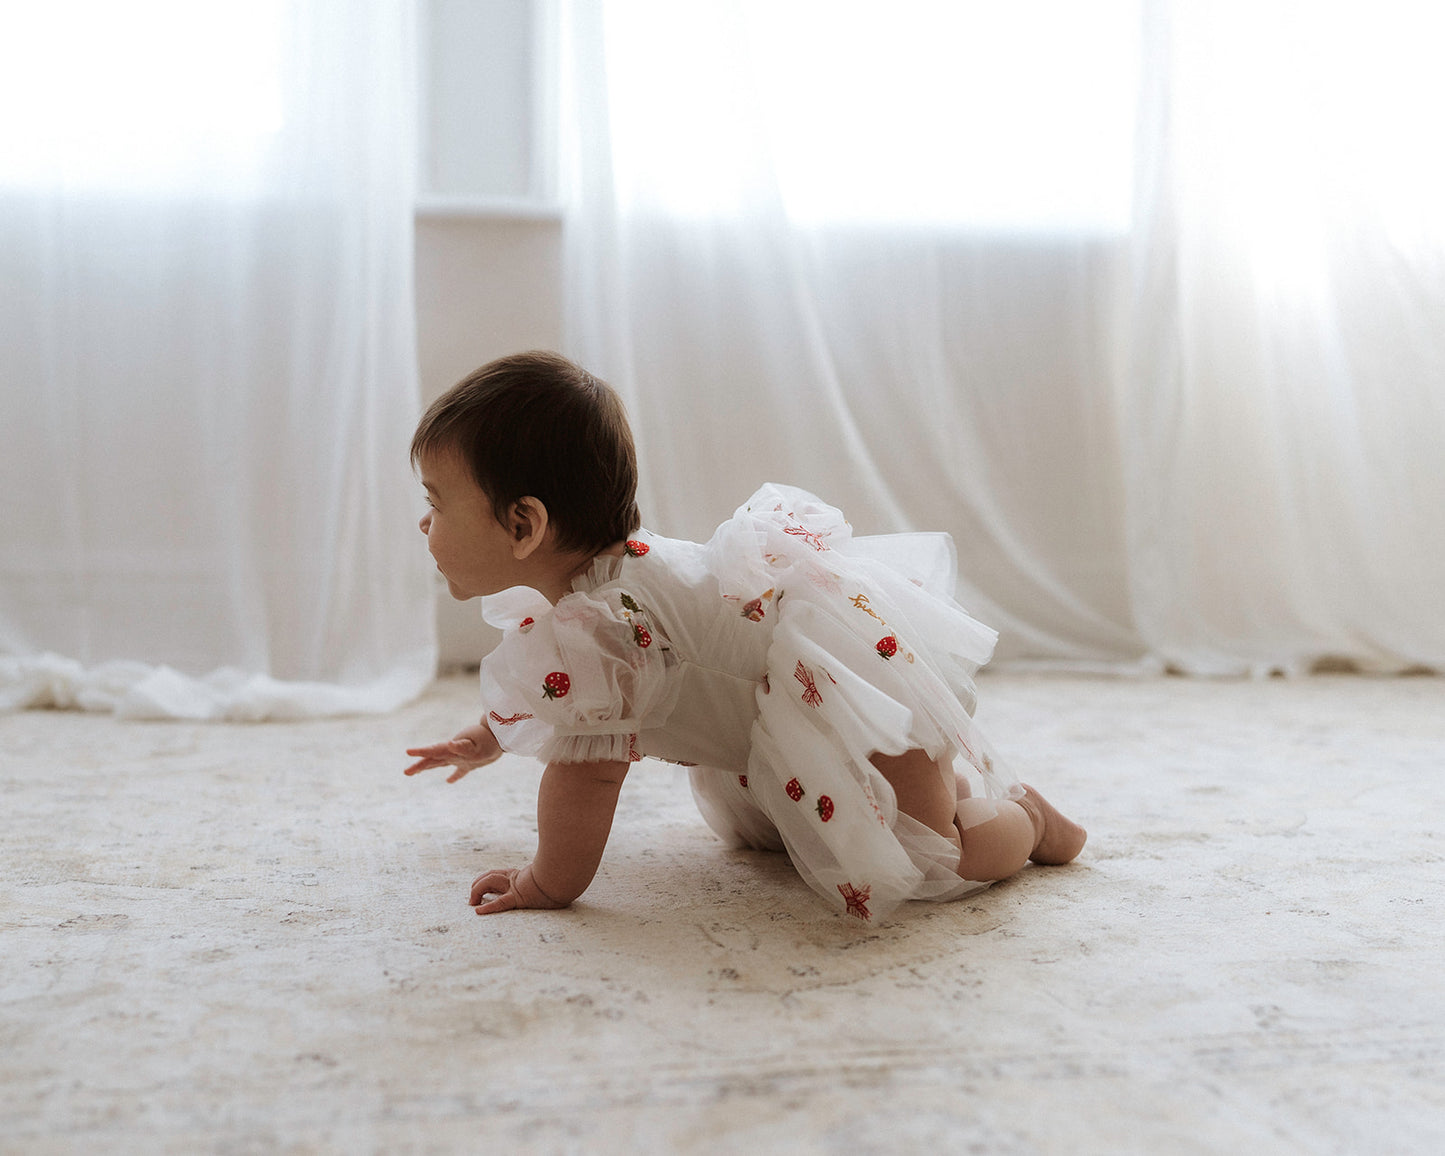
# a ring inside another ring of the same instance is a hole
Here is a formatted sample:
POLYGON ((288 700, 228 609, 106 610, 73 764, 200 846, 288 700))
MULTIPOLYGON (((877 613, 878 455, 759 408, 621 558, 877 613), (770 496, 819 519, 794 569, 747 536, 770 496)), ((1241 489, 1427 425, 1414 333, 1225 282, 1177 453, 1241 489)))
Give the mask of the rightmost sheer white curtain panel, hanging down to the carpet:
POLYGON ((1445 669, 1445 17, 1150 9, 1136 621, 1189 670, 1445 669))

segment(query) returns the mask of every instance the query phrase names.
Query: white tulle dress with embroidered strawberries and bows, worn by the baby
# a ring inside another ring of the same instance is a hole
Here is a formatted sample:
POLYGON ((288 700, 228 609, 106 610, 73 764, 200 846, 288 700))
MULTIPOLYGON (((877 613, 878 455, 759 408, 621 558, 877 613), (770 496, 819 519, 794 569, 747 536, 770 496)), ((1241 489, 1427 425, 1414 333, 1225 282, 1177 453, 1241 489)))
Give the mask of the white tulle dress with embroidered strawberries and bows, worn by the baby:
POLYGON ((987 884, 868 762, 922 747, 975 796, 1022 793, 972 721, 996 634, 952 600, 954 574, 948 535, 854 538, 840 510, 769 484, 705 545, 639 532, 556 605, 486 598, 504 631, 481 666, 487 720, 545 762, 692 767, 718 835, 786 850, 842 915, 954 899, 987 884))

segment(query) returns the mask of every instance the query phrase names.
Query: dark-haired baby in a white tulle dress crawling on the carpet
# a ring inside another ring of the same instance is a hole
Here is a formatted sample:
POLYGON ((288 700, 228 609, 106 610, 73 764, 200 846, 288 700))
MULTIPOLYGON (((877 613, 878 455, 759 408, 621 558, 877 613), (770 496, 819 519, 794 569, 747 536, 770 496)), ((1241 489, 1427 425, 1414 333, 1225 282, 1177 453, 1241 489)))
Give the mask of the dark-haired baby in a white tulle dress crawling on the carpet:
POLYGON ((640 529, 617 394, 551 353, 504 357, 425 413, 420 529, 454 598, 503 639, 484 717, 415 747, 447 782, 513 751, 546 763, 538 850, 471 884, 478 915, 564 907, 592 881, 631 763, 689 767, 727 842, 786 851, 838 913, 879 920, 1085 832, 991 756, 972 675, 996 634, 954 600, 946 535, 854 538, 763 486, 707 543, 640 529))

